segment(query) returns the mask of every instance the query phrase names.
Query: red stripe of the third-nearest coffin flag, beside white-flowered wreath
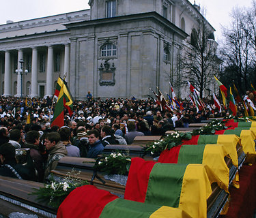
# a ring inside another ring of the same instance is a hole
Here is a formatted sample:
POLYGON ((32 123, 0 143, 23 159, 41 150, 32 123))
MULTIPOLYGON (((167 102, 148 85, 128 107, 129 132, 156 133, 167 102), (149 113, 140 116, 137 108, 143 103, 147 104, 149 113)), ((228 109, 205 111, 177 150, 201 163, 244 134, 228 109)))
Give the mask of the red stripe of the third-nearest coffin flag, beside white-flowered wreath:
POLYGON ((160 154, 160 157, 158 159, 158 162, 160 163, 177 163, 177 159, 179 158, 180 148, 182 145, 175 146, 171 148, 170 150, 166 149, 165 151, 162 151, 160 154))

